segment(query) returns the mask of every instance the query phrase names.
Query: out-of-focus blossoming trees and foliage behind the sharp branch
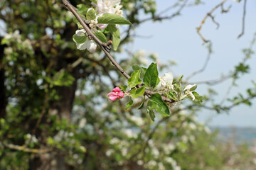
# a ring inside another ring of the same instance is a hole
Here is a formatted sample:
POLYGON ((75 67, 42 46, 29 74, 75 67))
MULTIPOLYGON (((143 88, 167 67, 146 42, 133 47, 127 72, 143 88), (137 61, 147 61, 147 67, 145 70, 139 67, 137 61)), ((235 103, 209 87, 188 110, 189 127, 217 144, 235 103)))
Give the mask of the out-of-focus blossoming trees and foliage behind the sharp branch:
MULTIPOLYGON (((141 13, 150 21, 164 20, 156 16, 156 3, 121 4, 133 25, 122 27, 119 50, 112 55, 129 73, 132 64, 148 61, 159 69, 171 67, 160 64, 156 54, 124 48, 144 23, 141 13), (118 57, 122 52, 129 57, 118 57)), ((2 0, 0 10, 5 25, 0 37, 0 169, 256 169, 255 152, 247 145, 220 141, 218 132, 198 123, 196 112, 205 103, 173 106, 170 117, 156 114, 152 123, 144 109, 137 110, 143 98, 128 111, 128 98, 110 102, 108 92, 126 79, 100 49, 77 50, 72 36, 78 28, 61 1, 2 0)), ((243 63, 230 79, 239 79, 240 72, 249 72, 243 63)), ((250 98, 237 96, 233 105, 250 104, 255 89, 247 92, 250 98)), ((212 103, 208 95, 204 101, 212 103)), ((212 105, 218 112, 230 108, 212 105)))

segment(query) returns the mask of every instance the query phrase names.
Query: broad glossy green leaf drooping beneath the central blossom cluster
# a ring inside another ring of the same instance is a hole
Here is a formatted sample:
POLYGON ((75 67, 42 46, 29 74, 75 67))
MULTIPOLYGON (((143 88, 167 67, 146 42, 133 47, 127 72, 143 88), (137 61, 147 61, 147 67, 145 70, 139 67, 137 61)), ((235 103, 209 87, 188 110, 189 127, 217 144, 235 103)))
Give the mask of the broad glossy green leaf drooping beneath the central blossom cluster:
POLYGON ((156 109, 159 113, 162 115, 169 115, 170 111, 166 103, 161 100, 161 95, 160 94, 152 94, 150 97, 151 101, 151 109, 156 109))

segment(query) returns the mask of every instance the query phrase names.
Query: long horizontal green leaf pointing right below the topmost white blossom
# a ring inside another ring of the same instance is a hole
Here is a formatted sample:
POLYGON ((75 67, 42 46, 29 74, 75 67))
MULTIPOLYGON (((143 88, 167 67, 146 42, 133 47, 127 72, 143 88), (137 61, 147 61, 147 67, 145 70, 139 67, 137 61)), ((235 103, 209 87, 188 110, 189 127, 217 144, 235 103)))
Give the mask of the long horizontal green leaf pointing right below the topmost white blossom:
POLYGON ((118 16, 114 13, 104 13, 102 16, 100 16, 99 18, 97 18, 98 23, 107 23, 107 24, 128 24, 128 25, 132 25, 132 23, 130 21, 128 21, 127 19, 125 19, 122 16, 118 16))

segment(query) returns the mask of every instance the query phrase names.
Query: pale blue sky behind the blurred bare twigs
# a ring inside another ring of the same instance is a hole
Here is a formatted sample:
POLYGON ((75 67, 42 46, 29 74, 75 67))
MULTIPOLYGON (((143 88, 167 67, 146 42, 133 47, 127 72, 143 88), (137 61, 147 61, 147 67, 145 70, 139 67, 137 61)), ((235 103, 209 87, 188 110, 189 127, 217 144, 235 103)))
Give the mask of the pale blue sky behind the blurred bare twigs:
MULTIPOLYGON (((174 1, 157 0, 158 11, 171 6, 174 1)), ((207 50, 203 46, 201 38, 196 33, 196 28, 200 25, 206 13, 220 1, 206 1, 204 5, 184 8, 181 16, 170 21, 144 23, 137 29, 137 35, 151 35, 151 38, 135 38, 133 50, 143 49, 148 52, 159 54, 160 60, 166 63, 168 60, 175 60, 178 65, 171 68, 171 72, 178 76, 183 74, 185 79, 192 72, 201 69, 206 60, 207 50)), ((230 12, 220 13, 220 9, 213 13, 215 20, 220 24, 216 29, 215 24, 208 18, 201 33, 206 39, 213 42, 213 55, 205 72, 196 75, 191 81, 203 81, 218 79, 221 74, 230 72, 233 67, 242 60, 242 49, 249 47, 252 36, 256 33, 256 1, 247 0, 247 11, 245 18, 245 34, 238 39, 242 28, 242 7, 243 1, 227 1, 225 8, 231 5, 230 12)), ((173 13, 176 10, 169 11, 173 13)), ((143 17, 142 17, 143 18, 143 17)), ((256 45, 253 48, 256 51, 256 45)), ((250 74, 242 76, 237 81, 238 86, 233 87, 230 95, 234 96, 238 92, 245 94, 245 89, 252 87, 251 80, 256 81, 256 56, 250 59, 250 74), (254 76, 253 76, 254 75, 254 76)), ((164 73, 163 73, 164 74, 164 73)), ((230 86, 230 81, 213 88, 218 92, 219 97, 215 98, 219 103, 225 96, 230 86)), ((205 94, 208 86, 199 85, 198 93, 205 94)), ((252 107, 238 106, 230 113, 216 115, 211 111, 203 111, 198 115, 201 122, 210 120, 209 125, 217 126, 255 126, 256 120, 256 100, 252 107)))

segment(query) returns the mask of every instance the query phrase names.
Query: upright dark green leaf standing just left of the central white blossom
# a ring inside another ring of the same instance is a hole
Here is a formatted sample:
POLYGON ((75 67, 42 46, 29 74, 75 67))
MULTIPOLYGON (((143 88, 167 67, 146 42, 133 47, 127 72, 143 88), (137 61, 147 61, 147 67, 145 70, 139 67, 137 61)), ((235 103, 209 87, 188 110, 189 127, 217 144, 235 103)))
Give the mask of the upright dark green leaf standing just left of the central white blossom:
POLYGON ((149 87, 155 87, 159 82, 159 72, 156 63, 151 63, 143 78, 144 84, 149 87))

